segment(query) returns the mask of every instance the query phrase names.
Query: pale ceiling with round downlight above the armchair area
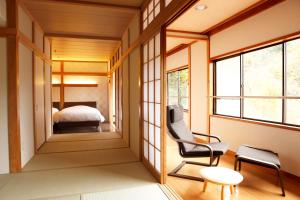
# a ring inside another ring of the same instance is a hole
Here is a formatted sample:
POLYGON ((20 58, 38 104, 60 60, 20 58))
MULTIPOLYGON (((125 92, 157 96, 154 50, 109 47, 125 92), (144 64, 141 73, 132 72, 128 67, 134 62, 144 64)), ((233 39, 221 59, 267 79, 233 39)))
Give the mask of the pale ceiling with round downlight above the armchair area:
POLYGON ((259 2, 261 0, 201 0, 170 24, 168 29, 202 33, 259 2), (197 11, 195 8, 200 4, 206 5, 207 9, 197 11))

